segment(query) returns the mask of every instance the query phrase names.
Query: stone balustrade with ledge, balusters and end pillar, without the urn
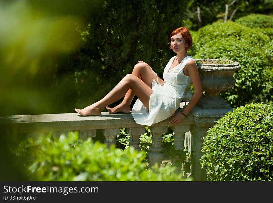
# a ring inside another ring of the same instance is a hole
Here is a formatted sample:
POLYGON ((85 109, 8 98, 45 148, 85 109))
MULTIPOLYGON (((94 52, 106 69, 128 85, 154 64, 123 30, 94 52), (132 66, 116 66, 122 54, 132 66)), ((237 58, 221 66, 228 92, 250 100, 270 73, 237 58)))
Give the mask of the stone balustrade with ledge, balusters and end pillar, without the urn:
MULTIPOLYGON (((183 105, 181 105, 183 108, 183 105)), ((181 111, 179 108, 177 111, 181 111)), ((206 175, 201 169, 200 157, 203 137, 207 130, 232 108, 204 109, 195 106, 189 115, 179 124, 170 126, 168 118, 150 126, 152 132, 152 145, 148 152, 148 160, 151 165, 162 163, 164 155, 161 145, 163 133, 170 127, 174 132, 174 147, 184 150, 185 146, 191 149, 191 176, 194 181, 205 181, 206 175), (190 142, 185 142, 190 140, 190 142), (189 137, 190 136, 190 137, 189 137)), ((139 146, 139 138, 145 132, 145 126, 137 124, 130 113, 109 114, 102 112, 99 116, 80 116, 78 113, 43 114, 43 115, 13 115, 0 118, 0 121, 10 125, 11 133, 37 136, 41 133, 53 131, 56 135, 69 131, 78 131, 82 139, 95 137, 98 130, 104 135, 104 142, 110 146, 116 143, 116 136, 121 128, 126 128, 130 135, 129 143, 136 149, 139 146)))

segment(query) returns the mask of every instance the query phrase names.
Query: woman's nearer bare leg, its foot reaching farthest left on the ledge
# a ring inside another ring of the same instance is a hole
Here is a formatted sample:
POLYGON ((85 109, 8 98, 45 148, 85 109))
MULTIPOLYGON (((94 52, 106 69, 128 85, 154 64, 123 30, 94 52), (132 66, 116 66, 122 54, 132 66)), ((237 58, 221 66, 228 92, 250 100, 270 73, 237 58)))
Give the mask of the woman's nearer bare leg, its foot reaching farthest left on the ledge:
POLYGON ((111 90, 103 99, 83 109, 75 108, 75 111, 82 116, 100 115, 102 108, 121 99, 129 89, 132 90, 133 94, 137 95, 137 97, 147 108, 149 108, 150 95, 153 92, 151 88, 152 81, 152 74, 150 74, 149 86, 139 77, 133 74, 128 74, 123 77, 123 79, 114 87, 114 89, 111 90))

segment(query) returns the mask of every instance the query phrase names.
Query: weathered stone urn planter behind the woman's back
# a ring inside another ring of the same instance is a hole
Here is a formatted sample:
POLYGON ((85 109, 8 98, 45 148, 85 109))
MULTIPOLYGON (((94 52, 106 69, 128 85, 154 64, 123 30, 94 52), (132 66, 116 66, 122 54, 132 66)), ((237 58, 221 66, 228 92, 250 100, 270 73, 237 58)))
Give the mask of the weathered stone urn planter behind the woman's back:
POLYGON ((239 63, 218 59, 197 59, 195 61, 205 91, 197 105, 204 109, 231 108, 225 99, 220 97, 220 92, 234 86, 233 73, 241 68, 239 63))

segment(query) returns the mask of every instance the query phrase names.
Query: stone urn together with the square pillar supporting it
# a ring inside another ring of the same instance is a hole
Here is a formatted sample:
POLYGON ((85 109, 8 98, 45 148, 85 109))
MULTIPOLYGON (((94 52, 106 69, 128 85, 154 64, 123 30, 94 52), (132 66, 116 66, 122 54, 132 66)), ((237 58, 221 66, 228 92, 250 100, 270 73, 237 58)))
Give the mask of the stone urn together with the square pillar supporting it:
MULTIPOLYGON (((208 61, 207 64, 197 64, 200 74, 202 88, 205 94, 199 99, 197 105, 192 109, 194 125, 191 127, 192 134, 192 174, 195 181, 206 181, 206 172, 201 169, 200 158, 203 138, 207 135, 209 128, 233 111, 225 99, 220 97, 220 92, 229 90, 235 84, 233 73, 241 66, 237 62, 231 64, 213 64, 217 59, 198 59, 208 61), (210 64, 212 62, 212 64, 210 64)), ((198 61, 195 60, 195 61, 198 61)))

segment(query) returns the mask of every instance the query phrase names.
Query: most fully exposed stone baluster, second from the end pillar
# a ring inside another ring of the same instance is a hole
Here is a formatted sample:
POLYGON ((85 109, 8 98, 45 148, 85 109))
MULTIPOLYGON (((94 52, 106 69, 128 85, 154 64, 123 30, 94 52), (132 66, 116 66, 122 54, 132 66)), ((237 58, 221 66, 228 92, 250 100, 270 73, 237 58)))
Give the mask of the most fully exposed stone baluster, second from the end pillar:
POLYGON ((148 160, 151 166, 154 164, 158 164, 158 166, 163 161, 163 147, 161 145, 162 143, 162 135, 165 132, 168 132, 167 126, 155 126, 151 127, 152 132, 152 145, 151 145, 151 151, 148 152, 148 160))

